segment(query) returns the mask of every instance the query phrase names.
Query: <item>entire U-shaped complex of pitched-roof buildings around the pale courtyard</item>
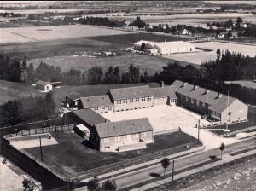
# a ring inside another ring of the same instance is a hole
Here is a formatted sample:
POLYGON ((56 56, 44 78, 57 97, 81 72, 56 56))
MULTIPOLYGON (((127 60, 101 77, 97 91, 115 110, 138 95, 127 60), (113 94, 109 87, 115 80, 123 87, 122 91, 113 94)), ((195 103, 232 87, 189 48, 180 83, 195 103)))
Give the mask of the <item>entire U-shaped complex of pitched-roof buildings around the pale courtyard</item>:
POLYGON ((154 142, 148 119, 110 122, 100 113, 121 112, 154 107, 160 104, 180 104, 208 119, 220 123, 247 121, 247 105, 238 99, 176 80, 159 88, 148 85, 110 89, 106 95, 83 97, 78 93, 66 95, 66 106, 77 111, 69 118, 75 131, 100 151, 126 151, 146 148, 154 142))

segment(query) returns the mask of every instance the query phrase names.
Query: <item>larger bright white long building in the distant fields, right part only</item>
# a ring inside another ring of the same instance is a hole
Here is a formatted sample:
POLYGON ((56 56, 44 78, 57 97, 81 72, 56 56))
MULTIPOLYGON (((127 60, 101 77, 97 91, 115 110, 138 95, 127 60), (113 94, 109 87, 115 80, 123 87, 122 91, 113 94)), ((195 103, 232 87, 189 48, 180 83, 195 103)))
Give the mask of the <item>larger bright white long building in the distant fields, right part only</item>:
POLYGON ((195 51, 195 46, 192 43, 183 41, 155 43, 154 48, 158 50, 160 55, 195 51))

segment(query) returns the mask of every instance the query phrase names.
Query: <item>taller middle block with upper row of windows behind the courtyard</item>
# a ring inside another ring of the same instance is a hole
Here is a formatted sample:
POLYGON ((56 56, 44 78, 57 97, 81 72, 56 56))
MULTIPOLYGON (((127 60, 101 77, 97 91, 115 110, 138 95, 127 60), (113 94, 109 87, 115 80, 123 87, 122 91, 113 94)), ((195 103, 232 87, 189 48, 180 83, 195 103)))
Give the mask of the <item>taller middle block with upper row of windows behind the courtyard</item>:
POLYGON ((108 95, 114 112, 154 106, 153 93, 148 85, 110 89, 108 95))

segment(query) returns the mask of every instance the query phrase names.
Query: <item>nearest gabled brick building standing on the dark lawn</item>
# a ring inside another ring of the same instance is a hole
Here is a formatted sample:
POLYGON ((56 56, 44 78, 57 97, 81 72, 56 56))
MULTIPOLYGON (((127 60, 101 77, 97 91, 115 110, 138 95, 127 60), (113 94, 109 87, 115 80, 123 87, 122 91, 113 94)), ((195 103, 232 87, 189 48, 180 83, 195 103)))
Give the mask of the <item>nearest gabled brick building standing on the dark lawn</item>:
POLYGON ((100 151, 146 148, 154 142, 153 128, 147 118, 94 124, 91 142, 100 151))

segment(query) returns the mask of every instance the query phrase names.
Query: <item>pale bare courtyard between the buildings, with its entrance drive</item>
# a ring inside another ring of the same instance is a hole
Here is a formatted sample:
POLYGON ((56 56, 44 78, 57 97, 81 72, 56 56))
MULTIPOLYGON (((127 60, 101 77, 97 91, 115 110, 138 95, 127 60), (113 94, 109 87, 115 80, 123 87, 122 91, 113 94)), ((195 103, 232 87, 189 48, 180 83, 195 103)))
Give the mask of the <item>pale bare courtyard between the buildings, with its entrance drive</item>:
MULTIPOLYGON (((151 108, 124 112, 108 112, 103 113, 102 116, 110 121, 148 118, 154 131, 172 130, 181 127, 183 132, 189 134, 190 136, 194 136, 195 138, 198 136, 198 130, 195 128, 195 125, 198 124, 198 120, 200 119, 201 124, 209 124, 207 120, 201 119, 201 115, 192 113, 189 110, 182 107, 177 107, 176 105, 159 105, 151 108)), ((201 130, 200 134, 200 140, 206 149, 218 148, 221 142, 224 142, 225 145, 237 142, 236 138, 213 136, 211 133, 205 130, 201 130)))

